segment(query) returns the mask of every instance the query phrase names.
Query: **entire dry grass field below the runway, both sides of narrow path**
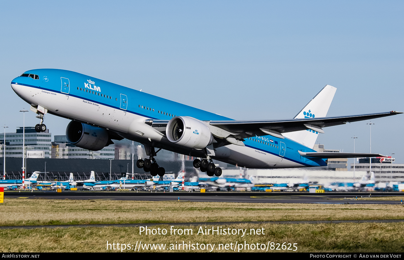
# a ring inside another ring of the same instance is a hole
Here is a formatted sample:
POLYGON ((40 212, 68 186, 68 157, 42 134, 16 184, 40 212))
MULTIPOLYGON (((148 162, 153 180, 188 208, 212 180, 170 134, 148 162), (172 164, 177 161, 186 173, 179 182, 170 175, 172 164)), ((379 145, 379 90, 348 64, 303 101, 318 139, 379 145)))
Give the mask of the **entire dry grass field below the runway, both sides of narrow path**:
MULTIPOLYGON (((0 225, 107 224, 164 222, 231 222, 282 220, 378 220, 403 219, 403 205, 384 204, 282 204, 282 203, 222 203, 188 201, 118 201, 118 200, 50 200, 10 199, 0 204, 0 225)), ((207 226, 207 228, 211 226, 207 226)), ((150 228, 169 229, 167 225, 150 228)), ((0 230, 2 252, 108 252, 109 243, 135 245, 148 243, 218 244, 279 243, 293 245, 295 252, 402 252, 404 223, 342 223, 342 224, 234 224, 230 229, 265 229, 265 235, 202 235, 195 234, 199 226, 175 226, 193 229, 193 235, 144 235, 139 227, 40 228, 0 230), (244 242, 245 241, 245 242, 244 242)), ((204 229, 204 226, 202 227, 204 229)), ((217 226, 215 226, 215 229, 217 226)), ((220 226, 219 226, 220 228, 220 226)), ((248 234, 248 232, 247 232, 248 234)), ((146 250, 139 252, 206 252, 206 250, 146 250)), ((118 252, 120 250, 109 250, 118 252)), ((134 250, 123 250, 133 252, 134 250)), ((244 250, 240 252, 262 252, 244 250)))

